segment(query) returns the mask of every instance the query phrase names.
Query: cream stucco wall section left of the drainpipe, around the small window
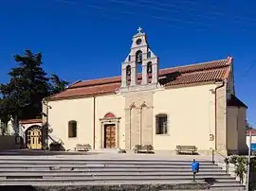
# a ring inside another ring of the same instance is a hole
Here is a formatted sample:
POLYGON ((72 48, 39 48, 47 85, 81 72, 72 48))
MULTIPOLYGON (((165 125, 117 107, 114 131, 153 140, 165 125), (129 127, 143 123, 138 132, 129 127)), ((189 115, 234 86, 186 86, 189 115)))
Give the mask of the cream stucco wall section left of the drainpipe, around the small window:
POLYGON ((50 101, 49 127, 51 134, 64 142, 65 149, 77 144, 93 145, 93 97, 50 101), (68 138, 68 121, 77 121, 77 137, 68 138))

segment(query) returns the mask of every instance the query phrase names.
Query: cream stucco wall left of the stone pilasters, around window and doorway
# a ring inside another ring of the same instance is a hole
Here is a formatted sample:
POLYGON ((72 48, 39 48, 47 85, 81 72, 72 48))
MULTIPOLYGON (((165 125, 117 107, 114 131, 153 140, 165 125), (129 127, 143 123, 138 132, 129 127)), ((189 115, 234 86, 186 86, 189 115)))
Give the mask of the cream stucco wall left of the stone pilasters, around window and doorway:
MULTIPOLYGON (((65 149, 75 148, 77 144, 90 144, 93 147, 94 98, 50 101, 49 127, 54 137, 64 142, 65 149), (77 121, 77 137, 68 138, 68 121, 77 121)), ((101 148, 101 121, 106 113, 114 113, 119 120, 119 147, 124 147, 124 98, 122 96, 98 96, 95 98, 95 148, 101 148)))

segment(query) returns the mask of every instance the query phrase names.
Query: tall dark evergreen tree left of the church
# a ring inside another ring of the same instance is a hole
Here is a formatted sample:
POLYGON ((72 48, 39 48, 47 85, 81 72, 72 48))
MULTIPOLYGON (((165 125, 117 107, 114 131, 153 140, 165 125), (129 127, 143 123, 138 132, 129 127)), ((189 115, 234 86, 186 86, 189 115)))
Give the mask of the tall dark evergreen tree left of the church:
POLYGON ((15 55, 14 60, 18 66, 11 68, 9 83, 0 84, 0 118, 6 121, 11 116, 18 130, 20 119, 41 117, 43 98, 63 91, 67 82, 57 75, 46 76, 41 53, 25 50, 24 56, 15 55))

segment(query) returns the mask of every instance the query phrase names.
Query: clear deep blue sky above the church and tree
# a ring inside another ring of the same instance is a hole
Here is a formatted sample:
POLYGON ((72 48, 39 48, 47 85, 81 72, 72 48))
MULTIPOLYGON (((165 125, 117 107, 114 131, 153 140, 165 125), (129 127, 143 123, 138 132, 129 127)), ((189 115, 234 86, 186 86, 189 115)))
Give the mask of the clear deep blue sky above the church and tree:
POLYGON ((0 6, 0 82, 14 54, 42 52, 46 72, 70 82, 120 75, 141 26, 160 68, 234 57, 235 88, 256 127, 256 2, 9 0, 0 6), (243 3, 246 2, 246 3, 243 3))

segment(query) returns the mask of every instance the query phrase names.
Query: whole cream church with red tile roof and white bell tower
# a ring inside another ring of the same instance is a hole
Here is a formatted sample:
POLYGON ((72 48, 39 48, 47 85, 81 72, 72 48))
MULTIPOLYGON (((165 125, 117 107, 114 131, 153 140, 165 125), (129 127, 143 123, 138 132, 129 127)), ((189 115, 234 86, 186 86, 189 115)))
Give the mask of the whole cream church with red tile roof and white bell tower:
POLYGON ((80 80, 46 97, 43 121, 65 149, 247 150, 247 106, 235 96, 233 59, 159 69, 141 30, 120 64, 121 76, 80 80), (140 72, 141 71, 141 72, 140 72))

